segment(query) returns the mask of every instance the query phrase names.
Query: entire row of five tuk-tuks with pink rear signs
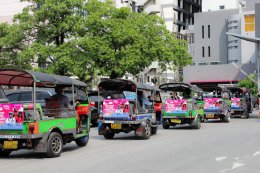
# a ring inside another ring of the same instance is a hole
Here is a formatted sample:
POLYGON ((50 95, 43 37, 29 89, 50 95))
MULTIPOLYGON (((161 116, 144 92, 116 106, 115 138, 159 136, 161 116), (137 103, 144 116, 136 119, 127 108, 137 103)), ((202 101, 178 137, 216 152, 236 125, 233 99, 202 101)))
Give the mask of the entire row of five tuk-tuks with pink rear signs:
MULTIPOLYGON (((86 84, 65 76, 39 72, 0 69, 1 86, 31 87, 32 103, 10 103, 0 88, 0 156, 32 149, 47 157, 60 156, 66 143, 85 146, 89 140, 91 101, 82 97, 86 84), (71 108, 61 106, 60 98, 46 99, 44 109, 37 103, 36 88, 71 88, 71 108)), ((249 90, 234 86, 204 86, 166 83, 159 87, 125 79, 107 79, 98 85, 98 132, 112 139, 120 132, 135 132, 148 139, 159 125, 189 124, 231 116, 248 118, 252 112, 249 90)))

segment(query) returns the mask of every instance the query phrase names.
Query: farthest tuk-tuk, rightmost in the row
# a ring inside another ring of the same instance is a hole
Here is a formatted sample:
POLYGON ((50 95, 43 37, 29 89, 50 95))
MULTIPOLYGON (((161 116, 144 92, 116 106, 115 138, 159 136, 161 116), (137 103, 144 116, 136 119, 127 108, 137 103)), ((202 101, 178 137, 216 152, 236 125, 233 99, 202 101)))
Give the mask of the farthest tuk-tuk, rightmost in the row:
POLYGON ((229 86, 227 89, 229 90, 231 100, 231 117, 241 116, 241 118, 249 118, 249 113, 253 111, 250 90, 238 86, 229 86))

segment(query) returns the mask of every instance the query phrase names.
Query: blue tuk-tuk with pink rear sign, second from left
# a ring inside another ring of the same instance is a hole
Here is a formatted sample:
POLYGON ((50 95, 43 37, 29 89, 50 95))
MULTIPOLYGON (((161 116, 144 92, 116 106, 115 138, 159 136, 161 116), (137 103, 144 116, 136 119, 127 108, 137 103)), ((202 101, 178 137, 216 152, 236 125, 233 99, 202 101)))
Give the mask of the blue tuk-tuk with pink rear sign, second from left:
POLYGON ((155 109, 161 111, 158 88, 125 79, 107 79, 99 83, 98 89, 104 98, 99 104, 99 135, 112 139, 116 133, 135 131, 135 135, 149 139, 156 134, 155 109))

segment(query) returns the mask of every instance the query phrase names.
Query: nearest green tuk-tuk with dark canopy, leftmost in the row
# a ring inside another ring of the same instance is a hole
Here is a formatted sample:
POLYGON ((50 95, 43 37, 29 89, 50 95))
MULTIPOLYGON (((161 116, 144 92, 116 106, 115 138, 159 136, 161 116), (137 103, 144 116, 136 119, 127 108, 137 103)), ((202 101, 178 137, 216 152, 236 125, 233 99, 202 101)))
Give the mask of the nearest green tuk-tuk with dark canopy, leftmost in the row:
POLYGON ((86 100, 75 100, 77 91, 85 89, 85 83, 65 76, 17 69, 0 69, 0 79, 0 85, 32 87, 33 98, 29 104, 0 104, 1 157, 20 149, 58 157, 66 143, 75 141, 78 146, 87 145, 90 108, 86 100), (75 91, 71 107, 62 108, 60 98, 47 98, 43 111, 41 104, 36 103, 36 87, 57 86, 75 91))

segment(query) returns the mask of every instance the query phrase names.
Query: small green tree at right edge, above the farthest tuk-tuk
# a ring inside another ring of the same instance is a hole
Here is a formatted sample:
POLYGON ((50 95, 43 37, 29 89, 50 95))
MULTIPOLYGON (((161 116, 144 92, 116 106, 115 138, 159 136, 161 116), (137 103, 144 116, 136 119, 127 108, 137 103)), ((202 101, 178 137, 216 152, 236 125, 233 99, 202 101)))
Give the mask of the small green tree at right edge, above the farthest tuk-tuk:
POLYGON ((250 74, 248 75, 247 78, 241 80, 238 82, 238 85, 240 87, 246 87, 251 90, 251 93, 253 95, 257 94, 257 82, 256 82, 256 75, 255 74, 250 74))

